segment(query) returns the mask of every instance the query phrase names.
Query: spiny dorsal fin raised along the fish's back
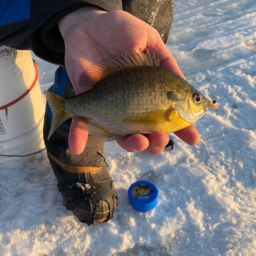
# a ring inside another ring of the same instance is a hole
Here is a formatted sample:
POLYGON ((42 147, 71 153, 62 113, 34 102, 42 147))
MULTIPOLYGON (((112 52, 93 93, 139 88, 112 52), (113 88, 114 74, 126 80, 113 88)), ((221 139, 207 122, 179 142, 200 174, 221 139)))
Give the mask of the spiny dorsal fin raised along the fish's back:
POLYGON ((120 53, 120 57, 113 56, 112 59, 108 58, 108 60, 101 60, 91 64, 80 76, 79 86, 90 90, 98 81, 112 73, 140 66, 160 65, 155 54, 151 56, 148 49, 146 54, 140 48, 138 53, 132 49, 130 54, 128 52, 125 52, 125 55, 120 53))

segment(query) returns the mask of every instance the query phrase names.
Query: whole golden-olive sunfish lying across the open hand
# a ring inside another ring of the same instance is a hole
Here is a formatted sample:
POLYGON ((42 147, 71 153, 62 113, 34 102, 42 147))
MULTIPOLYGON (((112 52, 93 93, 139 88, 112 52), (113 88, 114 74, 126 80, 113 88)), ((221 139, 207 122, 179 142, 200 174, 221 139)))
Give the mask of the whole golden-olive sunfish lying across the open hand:
POLYGON ((141 50, 92 64, 80 78, 88 91, 63 97, 44 91, 52 111, 53 132, 68 118, 89 135, 114 140, 130 134, 176 132, 218 108, 174 72, 161 68, 156 57, 141 50))

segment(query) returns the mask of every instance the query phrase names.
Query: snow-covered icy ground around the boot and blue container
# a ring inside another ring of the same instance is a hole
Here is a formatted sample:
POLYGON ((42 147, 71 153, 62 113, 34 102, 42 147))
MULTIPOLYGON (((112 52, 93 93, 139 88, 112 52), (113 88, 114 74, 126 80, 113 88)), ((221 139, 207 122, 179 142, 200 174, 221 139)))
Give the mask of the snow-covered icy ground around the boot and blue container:
MULTIPOLYGON (((174 150, 150 155, 106 143, 118 207, 89 227, 62 206, 46 152, 0 164, 0 255, 256 255, 256 2, 176 0, 167 45, 188 82, 218 95, 220 109, 196 122, 200 144, 171 136, 174 150), (160 192, 147 213, 128 203, 139 179, 160 192)), ((46 89, 56 67, 38 63, 46 89)))

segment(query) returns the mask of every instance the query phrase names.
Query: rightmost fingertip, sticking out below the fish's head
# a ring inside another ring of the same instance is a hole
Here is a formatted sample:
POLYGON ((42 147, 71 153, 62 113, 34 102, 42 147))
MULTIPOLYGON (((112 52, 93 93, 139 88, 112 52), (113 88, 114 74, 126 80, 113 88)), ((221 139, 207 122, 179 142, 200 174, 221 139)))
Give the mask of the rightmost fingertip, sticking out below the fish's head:
POLYGON ((179 130, 178 132, 174 132, 174 134, 192 146, 200 142, 200 134, 193 124, 182 130, 179 130))

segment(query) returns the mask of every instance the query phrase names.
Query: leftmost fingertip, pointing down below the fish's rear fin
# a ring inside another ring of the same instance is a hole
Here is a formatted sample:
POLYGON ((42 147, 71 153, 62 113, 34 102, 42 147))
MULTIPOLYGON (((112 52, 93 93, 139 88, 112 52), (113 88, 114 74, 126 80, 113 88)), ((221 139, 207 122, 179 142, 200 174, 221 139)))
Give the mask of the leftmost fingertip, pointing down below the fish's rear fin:
POLYGON ((84 152, 88 139, 88 132, 79 126, 79 118, 73 118, 68 136, 68 148, 72 154, 84 152))

